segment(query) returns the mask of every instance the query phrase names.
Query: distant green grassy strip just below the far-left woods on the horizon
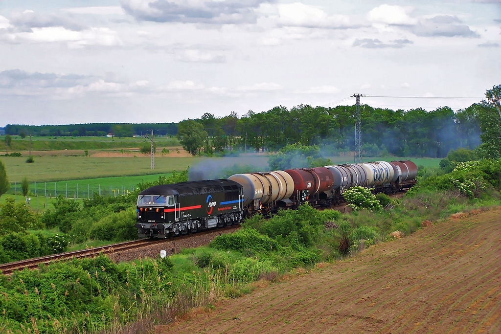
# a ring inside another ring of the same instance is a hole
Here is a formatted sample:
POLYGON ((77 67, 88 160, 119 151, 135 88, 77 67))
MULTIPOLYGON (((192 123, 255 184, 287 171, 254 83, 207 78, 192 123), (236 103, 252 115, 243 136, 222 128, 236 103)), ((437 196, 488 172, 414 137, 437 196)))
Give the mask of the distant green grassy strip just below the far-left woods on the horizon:
MULTIPOLYGON (((29 151, 30 138, 22 139, 19 136, 12 137, 9 147, 5 137, 1 137, 0 152, 29 151)), ((175 137, 155 137, 157 147, 179 146, 175 137)), ((108 138, 108 137, 32 137, 32 151, 59 151, 59 150, 103 150, 130 147, 143 147, 150 143, 150 139, 138 138, 108 138)))

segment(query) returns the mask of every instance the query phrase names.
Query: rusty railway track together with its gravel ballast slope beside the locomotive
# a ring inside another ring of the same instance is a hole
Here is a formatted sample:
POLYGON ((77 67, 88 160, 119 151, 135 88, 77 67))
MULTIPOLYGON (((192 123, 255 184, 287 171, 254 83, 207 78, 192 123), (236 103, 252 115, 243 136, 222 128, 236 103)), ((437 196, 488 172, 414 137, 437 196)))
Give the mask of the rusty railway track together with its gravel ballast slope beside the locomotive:
POLYGON ((73 258, 92 257, 97 256, 100 253, 106 254, 114 261, 132 260, 144 256, 156 257, 162 249, 164 249, 167 254, 172 254, 181 248, 197 247, 209 243, 217 235, 234 231, 239 227, 239 225, 228 226, 216 230, 198 232, 192 235, 183 235, 172 239, 140 239, 120 242, 102 247, 0 264, 0 270, 4 274, 10 274, 14 270, 38 268, 40 264, 47 264, 51 261, 64 261, 73 258))

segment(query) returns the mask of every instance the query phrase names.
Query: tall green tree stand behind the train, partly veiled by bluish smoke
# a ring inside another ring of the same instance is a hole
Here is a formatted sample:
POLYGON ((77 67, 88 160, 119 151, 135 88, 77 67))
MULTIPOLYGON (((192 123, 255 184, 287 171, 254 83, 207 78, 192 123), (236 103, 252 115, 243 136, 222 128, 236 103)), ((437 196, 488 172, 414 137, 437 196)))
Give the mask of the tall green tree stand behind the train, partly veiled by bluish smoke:
MULTIPOLYGON (((392 154, 441 158, 458 147, 480 144, 479 112, 472 105, 454 113, 449 107, 391 110, 361 106, 362 150, 366 156, 392 154)), ((178 124, 184 149, 195 155, 224 150, 278 151, 286 145, 319 145, 331 154, 354 150, 355 106, 334 108, 280 106, 262 113, 235 113, 178 124)))

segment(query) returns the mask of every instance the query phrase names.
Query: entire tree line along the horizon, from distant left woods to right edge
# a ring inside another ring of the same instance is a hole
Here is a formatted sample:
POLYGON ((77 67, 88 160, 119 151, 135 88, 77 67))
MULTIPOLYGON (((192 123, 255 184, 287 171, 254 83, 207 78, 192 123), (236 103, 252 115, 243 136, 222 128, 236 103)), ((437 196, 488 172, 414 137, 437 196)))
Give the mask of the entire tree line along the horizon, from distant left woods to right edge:
MULTIPOLYGON (((486 99, 466 109, 440 107, 392 110, 361 106, 362 151, 365 156, 414 156, 443 158, 459 147, 476 148, 481 156, 501 156, 501 85, 487 90, 486 99)), ((73 125, 7 125, 7 134, 104 135, 118 137, 149 133, 176 135, 192 155, 224 151, 278 151, 286 145, 319 145, 328 154, 354 150, 356 106, 293 108, 275 107, 261 113, 249 110, 242 117, 205 113, 199 119, 179 123, 73 125)))

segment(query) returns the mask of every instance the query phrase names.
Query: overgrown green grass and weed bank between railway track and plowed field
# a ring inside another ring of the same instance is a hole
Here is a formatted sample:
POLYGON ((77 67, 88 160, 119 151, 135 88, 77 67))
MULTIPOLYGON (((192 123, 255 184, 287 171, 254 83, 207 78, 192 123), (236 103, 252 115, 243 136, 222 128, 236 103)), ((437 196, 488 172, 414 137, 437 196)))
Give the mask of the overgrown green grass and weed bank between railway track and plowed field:
POLYGON ((430 196, 420 190, 375 212, 341 214, 303 206, 269 220, 255 217, 209 247, 182 250, 168 259, 114 264, 96 258, 52 264, 40 272, 24 270, 10 278, 0 275, 5 292, 0 307, 7 310, 2 321, 4 329, 30 327, 32 332, 35 327, 54 333, 64 328, 117 332, 126 323, 129 332, 145 332, 191 307, 212 308, 221 298, 248 293, 253 281, 276 281, 291 270, 391 239, 392 231, 409 235, 423 221, 440 222, 450 213, 494 204, 498 196, 470 199, 451 191, 430 196), (341 251, 345 237, 348 247, 341 251), (58 321, 47 321, 49 316, 58 321))

